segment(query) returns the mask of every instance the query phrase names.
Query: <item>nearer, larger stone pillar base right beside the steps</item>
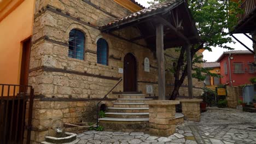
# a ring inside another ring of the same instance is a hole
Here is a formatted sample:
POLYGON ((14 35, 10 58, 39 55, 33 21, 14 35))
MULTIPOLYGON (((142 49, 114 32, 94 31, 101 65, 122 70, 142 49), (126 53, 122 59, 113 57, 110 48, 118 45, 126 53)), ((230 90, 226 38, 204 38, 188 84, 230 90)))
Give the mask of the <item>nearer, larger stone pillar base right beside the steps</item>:
POLYGON ((170 136, 176 130, 175 105, 178 100, 149 100, 149 133, 158 136, 170 136))

